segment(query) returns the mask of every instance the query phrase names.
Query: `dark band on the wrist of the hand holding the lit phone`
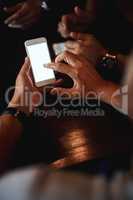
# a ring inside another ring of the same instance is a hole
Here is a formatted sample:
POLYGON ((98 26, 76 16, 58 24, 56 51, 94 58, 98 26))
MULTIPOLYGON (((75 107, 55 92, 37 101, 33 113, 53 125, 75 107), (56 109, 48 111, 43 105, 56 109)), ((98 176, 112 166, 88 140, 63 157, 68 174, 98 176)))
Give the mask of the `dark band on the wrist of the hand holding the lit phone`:
POLYGON ((27 124, 29 116, 24 112, 20 111, 18 108, 7 107, 2 115, 11 115, 15 117, 23 125, 27 124))

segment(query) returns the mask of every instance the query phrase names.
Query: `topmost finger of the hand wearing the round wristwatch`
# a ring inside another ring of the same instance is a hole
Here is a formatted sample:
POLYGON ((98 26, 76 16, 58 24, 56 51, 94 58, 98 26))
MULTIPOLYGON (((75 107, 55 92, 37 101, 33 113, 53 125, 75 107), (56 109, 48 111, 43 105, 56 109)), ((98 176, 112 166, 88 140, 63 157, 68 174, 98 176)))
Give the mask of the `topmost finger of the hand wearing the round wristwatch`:
POLYGON ((71 32, 70 37, 75 40, 86 41, 92 38, 92 35, 86 33, 71 32))

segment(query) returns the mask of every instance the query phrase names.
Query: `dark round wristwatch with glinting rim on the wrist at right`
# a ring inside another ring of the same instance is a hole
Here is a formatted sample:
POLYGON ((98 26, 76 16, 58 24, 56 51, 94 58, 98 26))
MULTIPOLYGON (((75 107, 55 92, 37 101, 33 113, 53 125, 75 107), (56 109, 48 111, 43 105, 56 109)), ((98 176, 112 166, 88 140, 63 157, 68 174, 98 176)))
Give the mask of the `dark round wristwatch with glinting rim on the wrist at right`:
POLYGON ((113 69, 118 66, 117 56, 106 53, 103 56, 100 65, 106 69, 113 69))

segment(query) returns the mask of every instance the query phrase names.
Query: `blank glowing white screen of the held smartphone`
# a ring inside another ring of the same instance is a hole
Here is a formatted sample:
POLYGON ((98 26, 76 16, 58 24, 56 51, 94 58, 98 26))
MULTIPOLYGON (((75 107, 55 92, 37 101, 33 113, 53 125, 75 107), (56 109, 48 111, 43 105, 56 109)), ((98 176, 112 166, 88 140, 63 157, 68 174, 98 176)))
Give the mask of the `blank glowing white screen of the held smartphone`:
POLYGON ((54 71, 44 67, 45 64, 51 62, 47 42, 27 46, 27 50, 31 61, 35 82, 39 83, 55 79, 54 71))

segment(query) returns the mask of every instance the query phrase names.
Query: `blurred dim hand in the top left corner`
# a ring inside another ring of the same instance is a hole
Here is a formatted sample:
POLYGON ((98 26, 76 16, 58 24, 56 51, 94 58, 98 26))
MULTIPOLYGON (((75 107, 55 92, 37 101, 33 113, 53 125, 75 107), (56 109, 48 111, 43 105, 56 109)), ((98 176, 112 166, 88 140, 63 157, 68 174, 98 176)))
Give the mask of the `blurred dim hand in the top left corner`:
POLYGON ((10 15, 5 24, 11 28, 28 29, 41 17, 41 1, 27 0, 13 7, 4 8, 4 11, 10 15))

